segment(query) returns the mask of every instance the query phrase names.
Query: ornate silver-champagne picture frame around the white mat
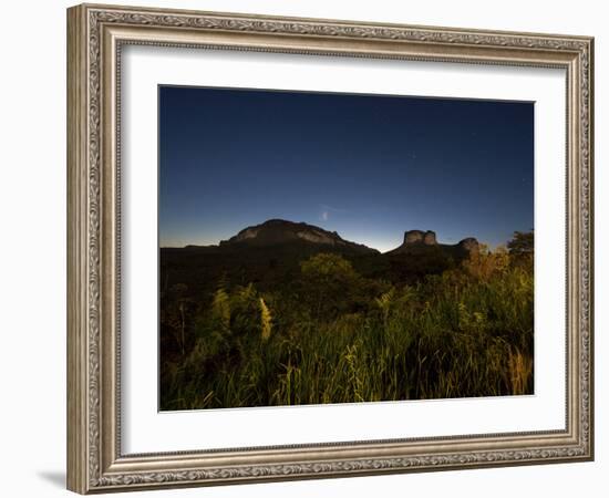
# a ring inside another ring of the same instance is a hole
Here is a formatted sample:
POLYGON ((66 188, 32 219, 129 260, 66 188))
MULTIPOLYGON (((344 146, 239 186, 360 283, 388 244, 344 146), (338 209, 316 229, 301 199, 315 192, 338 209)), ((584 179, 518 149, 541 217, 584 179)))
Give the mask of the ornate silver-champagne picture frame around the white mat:
POLYGON ((68 487, 81 494, 591 460, 593 40, 83 4, 68 10, 68 487), (564 430, 123 455, 120 122, 126 43, 562 68, 567 73, 564 430))

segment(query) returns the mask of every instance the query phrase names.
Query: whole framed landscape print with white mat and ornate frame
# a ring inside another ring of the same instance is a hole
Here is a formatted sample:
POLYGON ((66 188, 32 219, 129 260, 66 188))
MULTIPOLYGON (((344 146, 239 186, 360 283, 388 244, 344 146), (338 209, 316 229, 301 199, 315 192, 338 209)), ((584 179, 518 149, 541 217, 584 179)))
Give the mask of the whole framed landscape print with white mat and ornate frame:
POLYGON ((592 42, 69 9, 69 488, 590 460, 592 42))

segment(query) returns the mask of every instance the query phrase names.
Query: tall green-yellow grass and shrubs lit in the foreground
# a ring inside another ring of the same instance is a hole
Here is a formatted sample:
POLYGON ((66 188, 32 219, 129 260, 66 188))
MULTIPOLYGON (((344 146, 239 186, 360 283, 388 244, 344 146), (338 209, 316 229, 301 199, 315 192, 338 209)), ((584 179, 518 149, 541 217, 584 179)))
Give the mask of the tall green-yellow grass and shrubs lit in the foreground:
POLYGON ((415 286, 371 287, 342 262, 340 278, 323 264, 327 289, 348 276, 369 289, 364 305, 345 303, 347 293, 320 292, 320 302, 252 284, 218 289, 200 305, 188 351, 162 364, 162 408, 533 392, 531 266, 483 251, 415 286))

